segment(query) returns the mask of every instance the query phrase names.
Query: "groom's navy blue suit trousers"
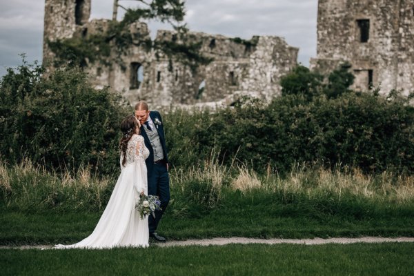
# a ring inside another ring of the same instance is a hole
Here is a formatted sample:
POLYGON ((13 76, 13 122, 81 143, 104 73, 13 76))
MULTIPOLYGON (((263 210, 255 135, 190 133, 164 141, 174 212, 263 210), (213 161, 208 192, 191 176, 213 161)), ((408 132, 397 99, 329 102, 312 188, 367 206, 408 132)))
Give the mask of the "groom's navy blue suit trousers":
POLYGON ((148 216, 150 234, 155 233, 159 221, 170 201, 170 177, 165 163, 154 164, 148 172, 148 195, 157 195, 161 201, 161 209, 155 211, 155 218, 148 216))

